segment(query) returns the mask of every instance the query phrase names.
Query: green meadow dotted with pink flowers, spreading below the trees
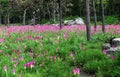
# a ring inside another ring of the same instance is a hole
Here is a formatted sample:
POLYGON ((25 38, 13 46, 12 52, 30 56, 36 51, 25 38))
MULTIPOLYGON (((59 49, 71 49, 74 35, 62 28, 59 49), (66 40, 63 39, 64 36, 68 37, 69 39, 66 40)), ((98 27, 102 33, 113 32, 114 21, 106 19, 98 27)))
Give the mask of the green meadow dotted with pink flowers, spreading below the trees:
POLYGON ((120 25, 91 27, 36 25, 0 27, 0 77, 119 77, 120 55, 106 56, 102 45, 120 37, 120 25))

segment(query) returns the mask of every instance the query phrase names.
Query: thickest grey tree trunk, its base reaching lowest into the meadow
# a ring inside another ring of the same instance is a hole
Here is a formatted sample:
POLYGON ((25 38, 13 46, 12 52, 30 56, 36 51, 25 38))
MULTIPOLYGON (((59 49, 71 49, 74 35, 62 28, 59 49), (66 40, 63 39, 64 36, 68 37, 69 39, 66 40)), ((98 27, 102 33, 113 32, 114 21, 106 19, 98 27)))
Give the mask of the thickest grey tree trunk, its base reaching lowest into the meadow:
POLYGON ((89 41, 91 39, 89 0, 86 0, 86 31, 87 40, 89 41))

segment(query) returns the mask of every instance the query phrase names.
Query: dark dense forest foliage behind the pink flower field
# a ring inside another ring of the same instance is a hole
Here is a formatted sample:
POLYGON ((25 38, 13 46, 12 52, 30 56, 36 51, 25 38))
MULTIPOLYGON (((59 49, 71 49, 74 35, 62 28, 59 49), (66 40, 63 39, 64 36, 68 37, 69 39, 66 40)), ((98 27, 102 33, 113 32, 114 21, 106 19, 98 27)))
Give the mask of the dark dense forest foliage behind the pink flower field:
MULTIPOLYGON (((63 18, 69 16, 85 17, 85 0, 62 0, 63 18)), ((115 16, 120 18, 120 3, 118 0, 103 0, 105 16, 115 16)), ((96 12, 100 12, 100 0, 95 0, 96 12)), ((46 19, 50 23, 58 20, 57 0, 0 0, 0 23, 22 23, 23 15, 26 11, 26 21, 36 17, 36 23, 45 23, 46 19)), ((90 12, 93 16, 92 0, 90 0, 90 12)), ((27 23, 26 23, 27 24, 27 23)))

